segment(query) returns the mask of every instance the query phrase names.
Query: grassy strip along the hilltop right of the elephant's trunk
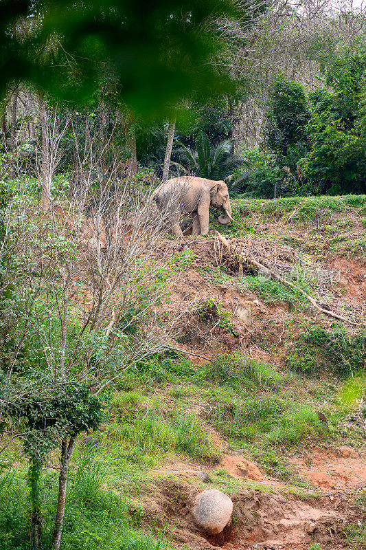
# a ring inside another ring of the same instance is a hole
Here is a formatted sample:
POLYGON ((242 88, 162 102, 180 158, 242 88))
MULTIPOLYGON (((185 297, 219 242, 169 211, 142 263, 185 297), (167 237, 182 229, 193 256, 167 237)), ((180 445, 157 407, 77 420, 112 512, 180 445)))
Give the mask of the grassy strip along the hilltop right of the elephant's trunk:
POLYGON ((287 197, 276 201, 235 198, 231 206, 235 221, 222 228, 212 214, 211 230, 237 239, 251 234, 265 236, 318 259, 330 251, 365 254, 366 195, 287 197))

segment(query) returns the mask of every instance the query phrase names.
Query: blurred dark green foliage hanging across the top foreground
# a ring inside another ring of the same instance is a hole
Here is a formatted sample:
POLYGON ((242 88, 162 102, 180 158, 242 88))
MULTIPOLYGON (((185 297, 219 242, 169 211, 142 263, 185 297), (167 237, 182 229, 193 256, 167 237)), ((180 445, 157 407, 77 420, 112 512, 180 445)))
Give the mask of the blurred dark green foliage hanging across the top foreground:
POLYGON ((234 87, 212 63, 227 44, 206 23, 244 15, 229 0, 158 2, 144 10, 124 0, 7 0, 0 10, 0 94, 11 80, 29 80, 80 104, 108 83, 120 103, 157 120, 171 115, 180 99, 212 98, 234 87), (12 32, 19 19, 36 20, 36 32, 12 32), (62 40, 48 51, 55 34, 62 40))

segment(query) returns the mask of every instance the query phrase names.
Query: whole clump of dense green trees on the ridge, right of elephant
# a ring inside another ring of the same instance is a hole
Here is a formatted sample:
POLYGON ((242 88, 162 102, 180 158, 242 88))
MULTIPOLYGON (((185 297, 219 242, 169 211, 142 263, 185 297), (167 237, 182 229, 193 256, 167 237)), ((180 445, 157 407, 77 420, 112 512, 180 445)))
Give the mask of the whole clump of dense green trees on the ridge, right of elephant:
POLYGON ((270 182, 282 196, 365 192, 365 60, 363 51, 328 56, 322 69, 330 89, 308 97, 300 83, 275 80, 264 143, 275 162, 249 173, 251 195, 271 196, 270 182))

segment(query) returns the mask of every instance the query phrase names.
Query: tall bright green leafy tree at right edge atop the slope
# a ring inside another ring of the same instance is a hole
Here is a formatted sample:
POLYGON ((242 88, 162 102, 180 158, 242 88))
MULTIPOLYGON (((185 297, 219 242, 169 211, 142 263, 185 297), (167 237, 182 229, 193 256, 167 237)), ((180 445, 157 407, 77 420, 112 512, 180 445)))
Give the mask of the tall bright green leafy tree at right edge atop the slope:
POLYGON ((366 157, 362 131, 365 55, 334 56, 325 68, 334 93, 310 94, 312 118, 308 124, 310 151, 304 176, 310 191, 365 192, 366 157))

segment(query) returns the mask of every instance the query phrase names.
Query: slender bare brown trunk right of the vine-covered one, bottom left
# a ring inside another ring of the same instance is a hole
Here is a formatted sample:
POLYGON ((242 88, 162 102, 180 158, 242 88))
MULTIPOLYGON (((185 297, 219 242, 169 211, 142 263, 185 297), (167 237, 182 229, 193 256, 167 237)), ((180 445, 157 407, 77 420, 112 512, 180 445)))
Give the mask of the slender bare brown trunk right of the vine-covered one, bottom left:
POLYGON ((76 435, 62 439, 61 444, 61 460, 60 460, 60 475, 58 477, 58 498, 54 536, 52 538, 52 550, 60 550, 62 527, 65 517, 65 501, 66 501, 66 485, 67 485, 67 470, 73 453, 73 448, 76 443, 76 435))

